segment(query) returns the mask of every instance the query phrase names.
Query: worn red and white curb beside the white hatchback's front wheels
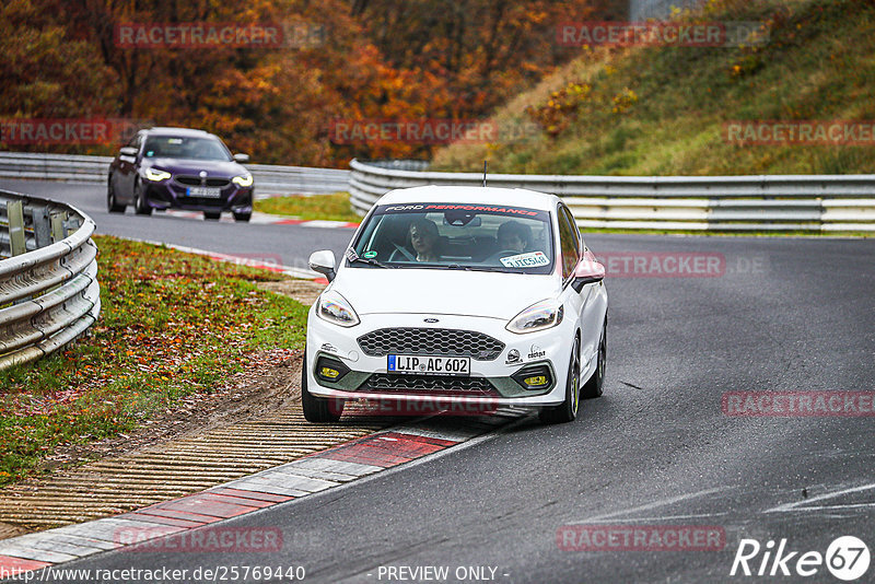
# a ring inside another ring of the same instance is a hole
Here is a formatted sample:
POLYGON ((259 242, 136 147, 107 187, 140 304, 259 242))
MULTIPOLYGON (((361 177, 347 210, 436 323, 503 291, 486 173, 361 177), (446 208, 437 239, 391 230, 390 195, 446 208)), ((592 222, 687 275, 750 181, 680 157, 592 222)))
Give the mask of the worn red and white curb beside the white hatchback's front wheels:
POLYGON ((488 417, 413 420, 180 499, 0 540, 0 574, 14 577, 102 551, 142 546, 337 488, 458 446, 528 413, 505 407, 488 417))

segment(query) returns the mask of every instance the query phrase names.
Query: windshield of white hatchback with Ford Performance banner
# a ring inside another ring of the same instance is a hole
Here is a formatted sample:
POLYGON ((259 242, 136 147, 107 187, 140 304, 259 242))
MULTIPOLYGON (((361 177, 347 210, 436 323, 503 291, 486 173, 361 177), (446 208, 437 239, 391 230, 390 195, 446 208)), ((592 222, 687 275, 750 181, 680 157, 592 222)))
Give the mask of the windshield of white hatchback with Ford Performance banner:
POLYGON ((479 203, 382 205, 347 259, 353 267, 550 273, 550 213, 479 203))

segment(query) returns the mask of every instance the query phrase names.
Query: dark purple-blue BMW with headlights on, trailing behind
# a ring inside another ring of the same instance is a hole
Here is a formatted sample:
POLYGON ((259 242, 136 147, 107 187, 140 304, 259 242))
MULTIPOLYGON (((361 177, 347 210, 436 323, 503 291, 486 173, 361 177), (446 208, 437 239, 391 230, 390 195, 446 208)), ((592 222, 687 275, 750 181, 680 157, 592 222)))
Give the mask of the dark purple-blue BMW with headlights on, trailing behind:
POLYGON ((124 213, 131 205, 141 215, 154 209, 203 211, 211 220, 230 211, 235 220, 249 221, 253 175, 241 165, 248 160, 202 130, 140 130, 109 165, 106 206, 124 213))

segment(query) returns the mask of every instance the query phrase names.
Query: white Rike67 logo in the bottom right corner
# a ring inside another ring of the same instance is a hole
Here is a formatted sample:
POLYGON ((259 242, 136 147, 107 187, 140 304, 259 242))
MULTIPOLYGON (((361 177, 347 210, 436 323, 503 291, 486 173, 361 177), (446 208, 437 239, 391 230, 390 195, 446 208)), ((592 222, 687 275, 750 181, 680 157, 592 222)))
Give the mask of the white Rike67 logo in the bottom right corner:
POLYGON ((852 582, 868 571, 871 559, 868 547, 854 536, 836 538, 826 554, 814 550, 791 550, 786 538, 782 538, 777 548, 771 539, 765 546, 756 539, 742 539, 730 575, 808 577, 819 574, 818 582, 824 582, 822 569, 826 565, 837 579, 852 582))

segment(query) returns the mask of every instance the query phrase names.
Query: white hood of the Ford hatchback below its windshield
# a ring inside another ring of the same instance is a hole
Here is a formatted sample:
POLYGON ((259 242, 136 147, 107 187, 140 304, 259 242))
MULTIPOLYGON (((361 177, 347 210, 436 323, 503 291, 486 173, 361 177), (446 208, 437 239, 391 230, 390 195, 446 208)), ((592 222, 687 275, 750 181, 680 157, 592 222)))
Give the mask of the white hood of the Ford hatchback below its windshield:
POLYGON ((503 320, 561 291, 555 275, 349 267, 340 269, 331 289, 360 315, 455 314, 503 320))

